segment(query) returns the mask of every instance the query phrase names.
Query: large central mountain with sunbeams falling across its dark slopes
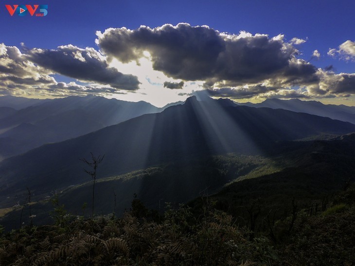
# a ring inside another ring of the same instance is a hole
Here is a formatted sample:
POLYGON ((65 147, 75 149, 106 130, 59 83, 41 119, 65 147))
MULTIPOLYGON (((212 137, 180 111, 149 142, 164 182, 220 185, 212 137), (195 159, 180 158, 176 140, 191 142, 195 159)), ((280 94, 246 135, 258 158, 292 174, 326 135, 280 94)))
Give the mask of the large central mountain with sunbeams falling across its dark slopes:
MULTIPOLYGON (((60 143, 47 144, 0 163, 2 195, 31 186, 36 194, 87 181, 80 158, 105 154, 100 177, 194 156, 265 154, 275 143, 355 132, 355 125, 282 109, 233 106, 228 100, 171 106, 60 143)), ((1 200, 1 199, 0 199, 1 200)))

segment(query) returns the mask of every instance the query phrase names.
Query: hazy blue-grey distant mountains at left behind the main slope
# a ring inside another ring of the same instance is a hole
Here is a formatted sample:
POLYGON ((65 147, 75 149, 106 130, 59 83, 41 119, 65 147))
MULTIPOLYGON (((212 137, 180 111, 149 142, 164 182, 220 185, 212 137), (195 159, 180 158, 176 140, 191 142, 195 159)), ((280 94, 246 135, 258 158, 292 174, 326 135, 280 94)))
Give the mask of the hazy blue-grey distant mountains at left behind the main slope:
POLYGON ((21 154, 46 143, 77 137, 163 109, 144 101, 95 96, 71 96, 46 100, 18 111, 12 109, 0 119, 0 157, 21 154))

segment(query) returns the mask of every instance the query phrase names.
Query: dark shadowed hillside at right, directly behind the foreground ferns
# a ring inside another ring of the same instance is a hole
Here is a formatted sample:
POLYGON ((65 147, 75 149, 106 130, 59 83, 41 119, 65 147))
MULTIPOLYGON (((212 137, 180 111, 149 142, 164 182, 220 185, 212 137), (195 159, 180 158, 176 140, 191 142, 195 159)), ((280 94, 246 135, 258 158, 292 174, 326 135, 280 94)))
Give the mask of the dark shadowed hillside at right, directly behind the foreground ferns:
MULTIPOLYGON (((256 203, 253 211, 258 212, 257 223, 261 226, 266 217, 281 219, 284 212, 292 213, 292 202, 298 210, 320 213, 332 194, 355 182, 355 133, 331 140, 280 143, 276 150, 269 158, 283 164, 282 169, 257 178, 248 179, 247 175, 222 188, 210 200, 234 217, 250 212, 256 203)), ((190 206, 200 204, 196 199, 190 206)), ((244 225, 243 220, 238 222, 244 225)))

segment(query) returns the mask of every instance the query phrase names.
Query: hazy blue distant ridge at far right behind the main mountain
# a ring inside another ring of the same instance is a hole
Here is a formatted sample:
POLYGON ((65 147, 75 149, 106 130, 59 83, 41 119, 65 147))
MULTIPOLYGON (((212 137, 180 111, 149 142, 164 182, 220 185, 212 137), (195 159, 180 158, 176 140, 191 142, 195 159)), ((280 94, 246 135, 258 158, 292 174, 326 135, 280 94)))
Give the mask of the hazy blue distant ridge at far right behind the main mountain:
POLYGON ((299 99, 280 100, 267 99, 260 103, 238 103, 249 107, 267 107, 272 109, 284 109, 293 112, 307 113, 316 116, 330 117, 355 124, 355 106, 323 104, 319 101, 303 101, 299 99))

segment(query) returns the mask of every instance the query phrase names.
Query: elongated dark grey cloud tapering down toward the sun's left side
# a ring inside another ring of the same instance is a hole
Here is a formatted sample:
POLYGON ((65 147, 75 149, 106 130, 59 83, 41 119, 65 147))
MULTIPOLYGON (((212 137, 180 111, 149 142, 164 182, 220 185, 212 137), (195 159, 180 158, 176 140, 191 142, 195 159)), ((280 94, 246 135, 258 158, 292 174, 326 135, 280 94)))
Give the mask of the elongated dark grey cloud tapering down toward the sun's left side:
POLYGON ((136 90, 140 82, 133 75, 125 75, 109 67, 106 59, 93 48, 80 49, 72 45, 57 50, 31 49, 26 58, 52 71, 85 82, 108 84, 123 90, 136 90))

